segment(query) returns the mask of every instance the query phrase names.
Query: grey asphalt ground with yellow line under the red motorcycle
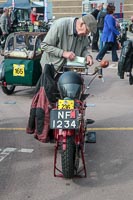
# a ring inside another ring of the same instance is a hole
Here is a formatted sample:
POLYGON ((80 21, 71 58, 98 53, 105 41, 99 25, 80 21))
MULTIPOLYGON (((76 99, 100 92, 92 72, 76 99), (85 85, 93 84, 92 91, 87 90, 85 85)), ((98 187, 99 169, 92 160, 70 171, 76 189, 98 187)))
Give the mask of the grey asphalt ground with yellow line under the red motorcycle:
POLYGON ((0 88, 1 200, 133 199, 133 86, 119 79, 111 54, 105 58, 104 82, 96 78, 88 90, 86 118, 95 120, 89 131, 97 142, 86 145, 87 178, 55 178, 54 144, 25 133, 34 88, 17 87, 11 96, 0 88))

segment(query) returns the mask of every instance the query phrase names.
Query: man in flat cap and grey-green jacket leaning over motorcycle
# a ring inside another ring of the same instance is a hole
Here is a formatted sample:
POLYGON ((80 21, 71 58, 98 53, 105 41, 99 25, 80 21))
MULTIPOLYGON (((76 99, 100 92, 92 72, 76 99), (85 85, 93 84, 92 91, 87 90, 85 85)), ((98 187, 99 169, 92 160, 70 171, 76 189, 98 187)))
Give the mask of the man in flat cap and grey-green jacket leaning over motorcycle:
POLYGON ((44 51, 41 58, 41 65, 53 64, 56 70, 60 70, 66 60, 74 60, 76 56, 86 58, 91 66, 93 58, 88 52, 88 34, 95 33, 97 21, 91 15, 81 18, 61 18, 54 21, 49 32, 41 43, 44 51))

